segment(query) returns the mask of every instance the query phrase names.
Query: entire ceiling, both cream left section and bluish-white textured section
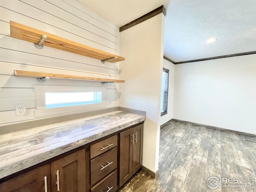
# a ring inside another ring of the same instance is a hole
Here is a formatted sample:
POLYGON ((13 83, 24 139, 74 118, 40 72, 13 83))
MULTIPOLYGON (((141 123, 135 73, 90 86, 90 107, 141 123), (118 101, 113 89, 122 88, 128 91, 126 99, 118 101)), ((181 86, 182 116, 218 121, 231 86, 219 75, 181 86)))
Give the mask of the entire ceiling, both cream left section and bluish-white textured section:
POLYGON ((164 55, 174 62, 256 51, 256 0, 76 1, 118 27, 163 4, 164 55))

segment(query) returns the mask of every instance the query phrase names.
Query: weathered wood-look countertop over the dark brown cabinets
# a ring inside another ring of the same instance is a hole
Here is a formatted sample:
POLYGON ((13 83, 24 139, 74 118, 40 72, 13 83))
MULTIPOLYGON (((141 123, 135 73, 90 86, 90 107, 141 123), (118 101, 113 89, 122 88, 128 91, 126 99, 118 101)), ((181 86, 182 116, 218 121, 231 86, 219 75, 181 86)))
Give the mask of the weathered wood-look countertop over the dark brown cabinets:
POLYGON ((143 122, 115 111, 0 135, 0 178, 143 122))

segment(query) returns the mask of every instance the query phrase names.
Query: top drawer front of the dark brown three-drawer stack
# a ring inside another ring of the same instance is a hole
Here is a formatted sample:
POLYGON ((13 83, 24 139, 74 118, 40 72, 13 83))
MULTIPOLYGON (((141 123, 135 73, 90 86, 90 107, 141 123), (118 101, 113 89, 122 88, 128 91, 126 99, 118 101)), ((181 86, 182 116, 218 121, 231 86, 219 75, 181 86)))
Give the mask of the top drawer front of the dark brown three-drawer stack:
POLYGON ((105 139, 91 146, 91 159, 116 147, 117 146, 117 135, 105 139))

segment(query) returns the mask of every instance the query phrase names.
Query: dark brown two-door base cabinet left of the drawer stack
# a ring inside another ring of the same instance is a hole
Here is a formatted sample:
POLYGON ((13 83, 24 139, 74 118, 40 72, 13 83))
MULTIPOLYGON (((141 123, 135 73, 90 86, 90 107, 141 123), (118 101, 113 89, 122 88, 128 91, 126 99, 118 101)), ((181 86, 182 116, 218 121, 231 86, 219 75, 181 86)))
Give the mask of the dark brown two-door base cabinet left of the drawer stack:
POLYGON ((86 148, 1 183, 0 192, 88 192, 88 162, 86 148))

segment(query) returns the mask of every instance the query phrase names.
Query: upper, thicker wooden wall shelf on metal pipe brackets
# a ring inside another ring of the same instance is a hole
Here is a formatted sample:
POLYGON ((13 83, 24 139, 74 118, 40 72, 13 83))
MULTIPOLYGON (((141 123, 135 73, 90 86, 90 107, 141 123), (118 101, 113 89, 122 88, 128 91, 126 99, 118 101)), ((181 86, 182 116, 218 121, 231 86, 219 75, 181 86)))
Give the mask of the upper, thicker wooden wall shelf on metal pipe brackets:
POLYGON ((29 41, 38 44, 41 40, 42 35, 46 35, 47 38, 44 40, 42 45, 49 46, 52 48, 100 59, 100 60, 107 60, 110 58, 116 57, 116 59, 109 60, 108 62, 119 62, 123 61, 125 58, 111 54, 108 52, 104 52, 102 50, 98 50, 62 37, 58 37, 56 35, 28 27, 26 25, 22 25, 16 23, 14 21, 10 21, 10 33, 11 37, 18 38, 21 40, 29 41))

